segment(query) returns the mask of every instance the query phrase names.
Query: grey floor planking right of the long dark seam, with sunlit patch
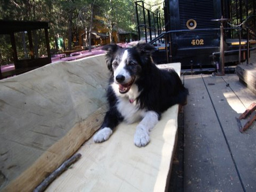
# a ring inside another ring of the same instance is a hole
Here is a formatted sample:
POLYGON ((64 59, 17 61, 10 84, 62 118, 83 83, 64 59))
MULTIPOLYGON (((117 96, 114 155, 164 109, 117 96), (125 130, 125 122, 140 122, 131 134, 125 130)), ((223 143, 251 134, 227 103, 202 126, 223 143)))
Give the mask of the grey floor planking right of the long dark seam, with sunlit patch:
MULTIPOLYGON (((215 82, 214 86, 208 86, 208 90, 229 144, 234 159, 233 164, 237 167, 241 184, 246 191, 254 191, 256 188, 254 180, 256 178, 256 157, 254 156, 256 153, 256 125, 254 122, 251 129, 247 129, 241 134, 234 117, 239 117, 256 100, 256 95, 243 86, 236 75, 215 80, 205 76, 204 79, 207 84, 215 82), (229 86, 226 86, 227 84, 229 86)), ((244 125, 249 119, 241 120, 241 123, 244 125)))

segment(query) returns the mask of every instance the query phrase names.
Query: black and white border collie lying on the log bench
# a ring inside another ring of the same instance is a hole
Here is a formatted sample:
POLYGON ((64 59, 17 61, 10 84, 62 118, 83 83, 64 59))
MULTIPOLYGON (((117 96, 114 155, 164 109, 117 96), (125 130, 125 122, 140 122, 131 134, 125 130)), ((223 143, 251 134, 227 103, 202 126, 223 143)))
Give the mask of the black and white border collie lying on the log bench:
POLYGON ((120 122, 140 121, 134 144, 146 146, 150 130, 155 127, 170 106, 186 104, 188 90, 180 77, 170 68, 159 69, 152 61, 155 48, 138 43, 132 48, 106 45, 106 63, 111 71, 107 99, 109 110, 94 142, 104 142, 120 122))

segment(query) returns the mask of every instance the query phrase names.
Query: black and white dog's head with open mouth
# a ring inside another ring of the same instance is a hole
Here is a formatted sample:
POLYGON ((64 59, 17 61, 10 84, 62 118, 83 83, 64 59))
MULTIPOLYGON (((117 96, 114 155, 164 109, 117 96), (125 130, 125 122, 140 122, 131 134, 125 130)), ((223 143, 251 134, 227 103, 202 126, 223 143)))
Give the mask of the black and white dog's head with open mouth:
POLYGON ((113 80, 119 85, 120 93, 127 93, 139 78, 141 70, 152 63, 154 46, 138 43, 132 48, 122 48, 116 44, 103 47, 106 50, 106 63, 113 72, 113 80))

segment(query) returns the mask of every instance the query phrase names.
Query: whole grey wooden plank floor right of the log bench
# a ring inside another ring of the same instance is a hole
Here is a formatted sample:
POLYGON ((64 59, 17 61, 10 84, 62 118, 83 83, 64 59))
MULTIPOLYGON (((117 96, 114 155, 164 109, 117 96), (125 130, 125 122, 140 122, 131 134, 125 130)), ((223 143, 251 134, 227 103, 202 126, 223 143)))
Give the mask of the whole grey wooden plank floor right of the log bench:
POLYGON ((235 119, 256 95, 235 74, 184 76, 184 85, 184 191, 256 191, 256 122, 241 134, 235 119))

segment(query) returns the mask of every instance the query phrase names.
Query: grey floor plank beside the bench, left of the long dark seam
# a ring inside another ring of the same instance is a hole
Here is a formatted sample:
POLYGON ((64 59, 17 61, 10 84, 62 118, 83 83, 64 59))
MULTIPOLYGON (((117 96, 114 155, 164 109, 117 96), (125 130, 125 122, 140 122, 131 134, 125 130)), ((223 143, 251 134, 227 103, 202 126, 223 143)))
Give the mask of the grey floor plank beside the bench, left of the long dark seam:
POLYGON ((184 83, 184 191, 242 191, 202 76, 185 76, 184 83))

